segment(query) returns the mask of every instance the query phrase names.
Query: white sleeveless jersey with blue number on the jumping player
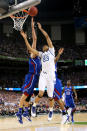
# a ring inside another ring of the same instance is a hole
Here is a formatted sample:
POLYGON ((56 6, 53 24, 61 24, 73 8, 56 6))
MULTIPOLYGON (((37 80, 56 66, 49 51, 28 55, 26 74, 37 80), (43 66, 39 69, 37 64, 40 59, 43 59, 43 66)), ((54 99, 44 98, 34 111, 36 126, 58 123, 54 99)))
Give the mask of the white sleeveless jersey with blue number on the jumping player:
POLYGON ((55 72, 55 50, 54 48, 49 48, 46 52, 39 52, 42 62, 42 72, 54 73, 55 72))

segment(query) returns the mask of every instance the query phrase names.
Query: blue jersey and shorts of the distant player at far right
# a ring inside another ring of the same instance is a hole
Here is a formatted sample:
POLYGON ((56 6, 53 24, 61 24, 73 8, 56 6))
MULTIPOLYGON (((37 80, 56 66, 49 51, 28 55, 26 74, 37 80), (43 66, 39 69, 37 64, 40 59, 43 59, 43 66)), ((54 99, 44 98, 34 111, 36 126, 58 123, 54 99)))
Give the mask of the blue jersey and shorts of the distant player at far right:
POLYGON ((74 99, 73 99, 73 90, 72 87, 65 87, 65 105, 66 107, 75 108, 74 99))

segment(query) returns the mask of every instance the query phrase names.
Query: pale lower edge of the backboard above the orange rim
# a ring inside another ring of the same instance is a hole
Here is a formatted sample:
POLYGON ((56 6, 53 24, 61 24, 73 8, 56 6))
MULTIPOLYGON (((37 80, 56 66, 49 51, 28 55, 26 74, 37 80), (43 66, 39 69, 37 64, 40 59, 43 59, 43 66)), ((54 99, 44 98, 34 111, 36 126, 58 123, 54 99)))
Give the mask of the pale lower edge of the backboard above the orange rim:
POLYGON ((0 19, 10 17, 24 9, 40 4, 41 0, 8 0, 9 9, 6 13, 0 14, 0 19))

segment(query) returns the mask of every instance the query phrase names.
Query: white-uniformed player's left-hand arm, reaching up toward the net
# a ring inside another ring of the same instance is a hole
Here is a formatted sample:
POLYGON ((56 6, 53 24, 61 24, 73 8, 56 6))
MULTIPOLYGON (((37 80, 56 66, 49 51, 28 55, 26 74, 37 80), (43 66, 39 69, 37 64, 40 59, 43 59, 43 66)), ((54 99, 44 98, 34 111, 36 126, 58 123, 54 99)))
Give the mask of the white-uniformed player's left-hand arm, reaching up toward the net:
POLYGON ((30 53, 33 53, 34 55, 39 56, 39 52, 38 52, 37 50, 33 49, 33 48, 30 46, 30 44, 29 44, 29 42, 28 42, 28 40, 27 40, 27 35, 26 35, 26 33, 24 33, 23 31, 21 31, 20 33, 21 33, 22 37, 24 38, 25 44, 26 44, 27 49, 29 50, 29 52, 30 52, 30 53))

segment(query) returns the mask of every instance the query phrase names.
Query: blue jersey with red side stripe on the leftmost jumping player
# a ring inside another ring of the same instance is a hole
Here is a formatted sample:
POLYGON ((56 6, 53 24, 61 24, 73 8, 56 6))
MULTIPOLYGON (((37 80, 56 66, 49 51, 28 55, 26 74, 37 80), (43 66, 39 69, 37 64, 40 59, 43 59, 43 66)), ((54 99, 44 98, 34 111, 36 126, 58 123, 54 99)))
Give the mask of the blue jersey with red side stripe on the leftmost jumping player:
POLYGON ((39 75, 40 70, 41 70, 40 58, 38 56, 35 58, 29 58, 29 73, 39 75))

